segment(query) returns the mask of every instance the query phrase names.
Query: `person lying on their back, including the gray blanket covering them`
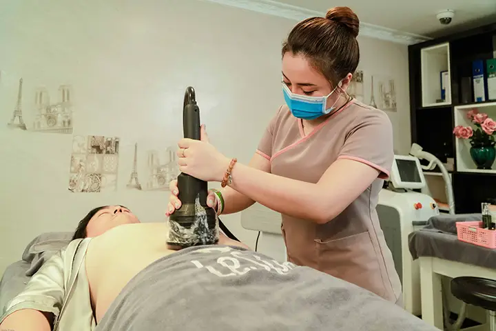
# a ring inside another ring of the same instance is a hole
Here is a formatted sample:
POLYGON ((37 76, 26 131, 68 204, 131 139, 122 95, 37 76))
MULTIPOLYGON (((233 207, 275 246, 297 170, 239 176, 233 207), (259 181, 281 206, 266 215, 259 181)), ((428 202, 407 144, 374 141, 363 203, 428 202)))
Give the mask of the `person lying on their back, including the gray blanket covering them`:
POLYGON ((0 330, 437 330, 329 274, 218 245, 169 250, 167 223, 92 210, 12 299, 0 330))

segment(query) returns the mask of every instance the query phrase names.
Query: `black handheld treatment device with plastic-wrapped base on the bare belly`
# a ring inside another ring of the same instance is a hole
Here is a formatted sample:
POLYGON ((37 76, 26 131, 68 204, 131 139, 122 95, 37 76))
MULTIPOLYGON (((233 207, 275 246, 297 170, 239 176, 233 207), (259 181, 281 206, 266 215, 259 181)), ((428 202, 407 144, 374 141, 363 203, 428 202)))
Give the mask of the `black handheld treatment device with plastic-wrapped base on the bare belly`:
MULTIPOLYGON (((186 89, 184 97, 183 133, 185 138, 200 140, 200 108, 192 87, 186 89)), ((207 205, 207 182, 181 172, 178 189, 182 205, 169 217, 167 243, 181 248, 217 243, 218 217, 207 205)))

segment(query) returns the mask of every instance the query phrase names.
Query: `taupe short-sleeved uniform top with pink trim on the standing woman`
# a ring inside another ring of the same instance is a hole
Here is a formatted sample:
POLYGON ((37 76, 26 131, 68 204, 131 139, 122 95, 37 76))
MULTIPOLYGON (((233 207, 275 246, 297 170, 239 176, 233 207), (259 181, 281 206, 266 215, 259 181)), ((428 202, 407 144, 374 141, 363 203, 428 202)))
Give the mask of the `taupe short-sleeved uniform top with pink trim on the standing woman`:
POLYGON ((337 159, 362 162, 380 171, 369 188, 327 223, 282 214, 282 235, 289 261, 400 302, 400 278, 375 210, 393 164, 389 117, 353 99, 305 135, 301 119, 282 106, 257 152, 270 161, 271 173, 308 183, 317 183, 337 159))

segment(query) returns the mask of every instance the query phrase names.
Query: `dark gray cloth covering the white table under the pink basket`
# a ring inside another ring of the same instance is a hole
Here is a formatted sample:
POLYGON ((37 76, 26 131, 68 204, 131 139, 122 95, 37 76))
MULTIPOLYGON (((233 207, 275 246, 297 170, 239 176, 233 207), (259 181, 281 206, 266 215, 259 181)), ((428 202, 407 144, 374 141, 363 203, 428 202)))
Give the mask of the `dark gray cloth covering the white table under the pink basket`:
POLYGON ((459 241, 456 222, 481 221, 481 214, 440 215, 431 217, 428 225, 409 234, 413 259, 439 257, 484 268, 496 268, 496 250, 459 241))

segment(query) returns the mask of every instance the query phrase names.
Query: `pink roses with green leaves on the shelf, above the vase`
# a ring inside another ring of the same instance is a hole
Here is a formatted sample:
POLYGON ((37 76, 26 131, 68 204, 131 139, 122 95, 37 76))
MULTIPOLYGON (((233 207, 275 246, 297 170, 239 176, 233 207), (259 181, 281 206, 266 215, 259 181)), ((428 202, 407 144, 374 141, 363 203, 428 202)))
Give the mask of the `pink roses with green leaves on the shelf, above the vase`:
POLYGON ((477 109, 470 110, 466 116, 475 125, 475 130, 470 126, 456 126, 453 129, 455 137, 470 139, 473 147, 495 146, 496 121, 477 109))

